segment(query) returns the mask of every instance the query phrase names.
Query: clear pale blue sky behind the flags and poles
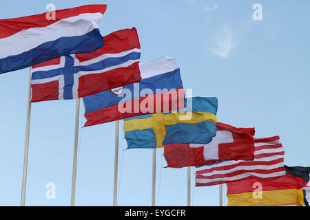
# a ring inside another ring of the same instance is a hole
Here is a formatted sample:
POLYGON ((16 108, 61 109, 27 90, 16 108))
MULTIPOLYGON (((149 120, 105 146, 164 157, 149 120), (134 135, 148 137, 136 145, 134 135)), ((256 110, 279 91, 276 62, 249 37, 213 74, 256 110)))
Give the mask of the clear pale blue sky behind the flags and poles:
MULTIPOLYGON (((280 135, 285 164, 310 166, 310 2, 285 1, 3 1, 0 19, 106 3, 101 34, 136 27, 141 62, 176 58, 185 88, 218 98, 219 122, 280 135), (262 21, 254 21, 254 3, 262 21)), ((28 69, 0 75, 0 206, 19 206, 28 69)), ((81 104, 81 124, 83 118, 81 104)), ((70 206, 75 100, 32 104, 26 206, 70 206), (53 182, 56 198, 47 199, 53 182)), ((122 123, 121 123, 122 124, 122 123)), ((111 206, 114 122, 80 129, 76 206, 111 206)), ((121 129, 123 126, 121 126, 121 129)), ((120 206, 151 204, 152 150, 126 148, 120 132, 120 206)), ((157 150, 156 205, 186 206, 187 169, 162 168, 157 150)), ((224 186, 225 192, 225 186, 224 186)), ((192 204, 218 206, 218 186, 194 188, 192 204)), ((224 197, 224 205, 227 198, 224 197)))

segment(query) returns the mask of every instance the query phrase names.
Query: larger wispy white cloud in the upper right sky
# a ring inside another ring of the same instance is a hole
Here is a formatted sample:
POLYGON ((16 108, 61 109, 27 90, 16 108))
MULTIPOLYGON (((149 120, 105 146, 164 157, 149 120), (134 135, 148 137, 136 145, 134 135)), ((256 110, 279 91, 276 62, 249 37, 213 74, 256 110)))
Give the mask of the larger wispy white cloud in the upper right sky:
POLYGON ((214 41, 214 47, 211 52, 214 56, 228 58, 231 50, 236 47, 236 42, 231 31, 227 27, 220 28, 218 36, 214 41))

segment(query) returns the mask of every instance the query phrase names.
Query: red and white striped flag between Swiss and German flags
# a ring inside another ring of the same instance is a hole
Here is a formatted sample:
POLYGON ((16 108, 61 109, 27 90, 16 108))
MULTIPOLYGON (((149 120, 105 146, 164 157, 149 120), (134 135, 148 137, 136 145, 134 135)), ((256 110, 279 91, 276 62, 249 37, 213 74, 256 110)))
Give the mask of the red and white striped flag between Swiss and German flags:
POLYGON ((196 186, 212 186, 243 179, 269 181, 285 175, 280 137, 254 137, 254 160, 228 160, 196 166, 196 186))

